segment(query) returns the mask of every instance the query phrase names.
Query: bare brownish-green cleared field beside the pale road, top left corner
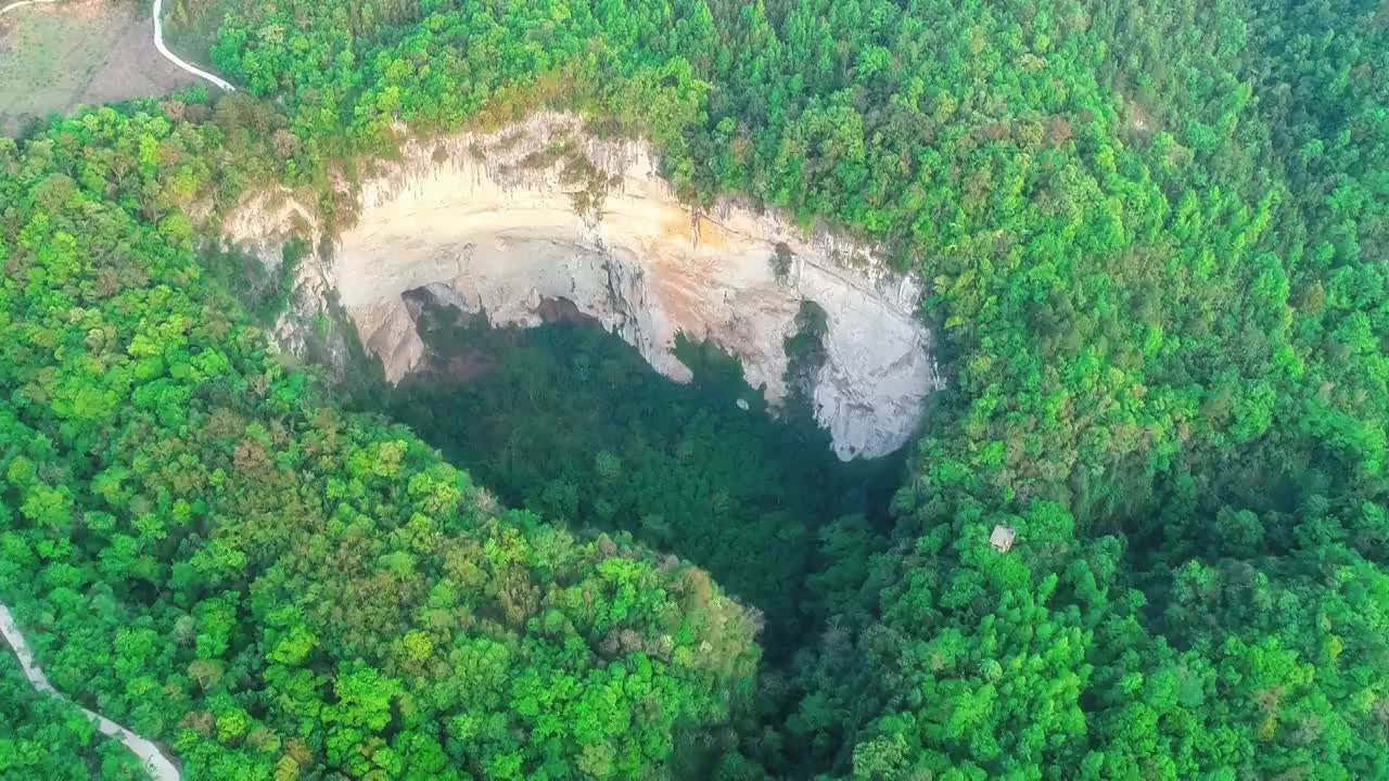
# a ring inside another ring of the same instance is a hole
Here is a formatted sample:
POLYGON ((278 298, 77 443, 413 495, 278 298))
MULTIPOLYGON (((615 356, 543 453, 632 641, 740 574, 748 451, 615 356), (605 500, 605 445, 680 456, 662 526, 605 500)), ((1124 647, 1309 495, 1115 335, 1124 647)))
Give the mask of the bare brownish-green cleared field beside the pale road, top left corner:
POLYGON ((0 133, 18 135, 83 103, 193 83, 154 50, 153 31, 129 0, 29 6, 0 17, 0 133))

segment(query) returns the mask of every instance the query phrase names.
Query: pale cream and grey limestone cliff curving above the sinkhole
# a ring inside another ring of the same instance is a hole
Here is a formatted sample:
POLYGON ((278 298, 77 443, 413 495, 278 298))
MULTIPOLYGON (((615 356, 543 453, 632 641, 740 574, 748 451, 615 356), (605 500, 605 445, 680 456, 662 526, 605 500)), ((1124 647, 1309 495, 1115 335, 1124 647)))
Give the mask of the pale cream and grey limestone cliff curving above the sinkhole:
MULTIPOLYGON (((828 315, 815 417, 836 452, 900 447, 940 386, 920 285, 874 247, 776 214, 735 202, 694 211, 657 170, 644 143, 593 138, 565 114, 407 145, 361 185, 360 220, 332 239, 332 260, 301 277, 310 297, 336 290, 392 381, 424 354, 401 295, 429 286, 499 325, 538 325, 542 300, 568 299, 681 381, 676 334, 710 338, 772 404, 786 393, 782 340, 811 300, 828 315)), ((226 233, 272 254, 290 222, 314 229, 308 210, 260 196, 226 233)), ((293 329, 279 331, 293 347, 293 329)))

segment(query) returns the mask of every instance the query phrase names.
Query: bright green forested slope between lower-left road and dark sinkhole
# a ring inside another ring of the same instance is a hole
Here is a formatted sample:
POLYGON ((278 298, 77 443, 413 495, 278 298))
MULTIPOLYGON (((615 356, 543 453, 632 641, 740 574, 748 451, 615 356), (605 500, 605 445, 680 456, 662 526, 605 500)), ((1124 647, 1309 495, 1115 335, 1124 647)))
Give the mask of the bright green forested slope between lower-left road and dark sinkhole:
POLYGON ((217 136, 0 140, 0 592, 54 685, 218 780, 633 777, 726 720, 707 574, 500 509, 206 281, 165 199, 217 136))

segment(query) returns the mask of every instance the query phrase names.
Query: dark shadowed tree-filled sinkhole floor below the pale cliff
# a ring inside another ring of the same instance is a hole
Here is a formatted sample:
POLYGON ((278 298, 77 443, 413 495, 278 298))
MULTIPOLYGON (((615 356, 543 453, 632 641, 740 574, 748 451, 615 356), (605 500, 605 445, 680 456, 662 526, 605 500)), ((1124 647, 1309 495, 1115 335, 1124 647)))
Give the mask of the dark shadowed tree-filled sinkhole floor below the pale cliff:
POLYGON ((840 461, 800 390, 820 357, 814 304, 786 339, 793 392, 776 411, 713 342, 681 338, 694 375, 681 384, 564 299, 536 328, 492 327, 425 289, 406 300, 426 357, 381 411, 506 504, 708 570, 761 611, 771 659, 824 618, 838 559, 886 531, 901 453, 840 461))

